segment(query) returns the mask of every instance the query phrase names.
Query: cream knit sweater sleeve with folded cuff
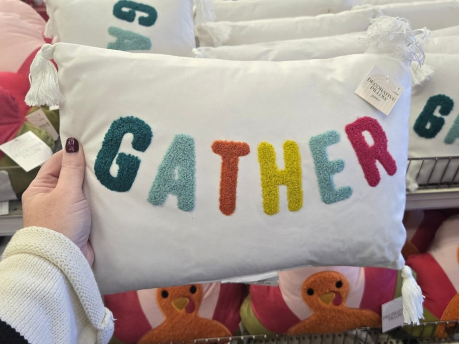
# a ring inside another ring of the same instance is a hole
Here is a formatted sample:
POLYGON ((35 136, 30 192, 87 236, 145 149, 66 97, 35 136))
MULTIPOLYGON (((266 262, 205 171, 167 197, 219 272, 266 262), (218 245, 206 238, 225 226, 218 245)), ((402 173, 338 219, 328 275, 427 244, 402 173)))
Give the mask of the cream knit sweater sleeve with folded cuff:
POLYGON ((80 249, 42 227, 19 230, 0 263, 0 319, 29 343, 107 343, 112 313, 80 249))

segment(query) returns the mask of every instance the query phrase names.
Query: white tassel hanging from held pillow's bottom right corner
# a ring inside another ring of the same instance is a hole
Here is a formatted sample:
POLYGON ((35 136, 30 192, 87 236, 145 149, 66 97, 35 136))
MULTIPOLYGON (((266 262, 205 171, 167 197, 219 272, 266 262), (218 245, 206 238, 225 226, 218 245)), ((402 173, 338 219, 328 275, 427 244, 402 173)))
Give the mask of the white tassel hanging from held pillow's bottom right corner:
POLYGON ((413 277, 410 267, 402 268, 402 299, 403 299, 403 318, 405 323, 419 325, 419 319, 424 319, 422 302, 424 296, 413 277))

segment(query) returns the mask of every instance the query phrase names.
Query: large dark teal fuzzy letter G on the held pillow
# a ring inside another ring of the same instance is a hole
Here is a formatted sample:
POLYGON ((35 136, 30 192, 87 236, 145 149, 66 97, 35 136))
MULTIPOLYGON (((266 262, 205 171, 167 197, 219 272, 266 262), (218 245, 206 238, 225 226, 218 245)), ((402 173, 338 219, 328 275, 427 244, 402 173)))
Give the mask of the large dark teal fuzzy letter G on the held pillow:
POLYGON ((125 134, 131 133, 132 148, 144 152, 151 143, 153 133, 148 124, 136 117, 121 117, 113 121, 105 134, 102 147, 97 153, 94 163, 94 173, 103 186, 112 191, 129 191, 134 183, 137 171, 140 166, 140 159, 132 154, 118 153, 121 141, 125 134), (118 154, 118 156, 116 156, 118 154), (113 177, 110 174, 110 167, 113 160, 118 164, 118 174, 113 177))

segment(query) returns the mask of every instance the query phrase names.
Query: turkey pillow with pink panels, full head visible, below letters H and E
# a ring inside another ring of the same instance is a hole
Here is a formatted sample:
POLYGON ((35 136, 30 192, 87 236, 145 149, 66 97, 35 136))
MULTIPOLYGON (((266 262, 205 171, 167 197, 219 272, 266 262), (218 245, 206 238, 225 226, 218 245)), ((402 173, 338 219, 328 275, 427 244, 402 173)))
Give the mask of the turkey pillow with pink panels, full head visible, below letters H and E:
POLYGON ((250 334, 342 332, 380 327, 381 305, 401 296, 400 273, 384 268, 306 267, 279 285, 251 285, 241 308, 250 334))

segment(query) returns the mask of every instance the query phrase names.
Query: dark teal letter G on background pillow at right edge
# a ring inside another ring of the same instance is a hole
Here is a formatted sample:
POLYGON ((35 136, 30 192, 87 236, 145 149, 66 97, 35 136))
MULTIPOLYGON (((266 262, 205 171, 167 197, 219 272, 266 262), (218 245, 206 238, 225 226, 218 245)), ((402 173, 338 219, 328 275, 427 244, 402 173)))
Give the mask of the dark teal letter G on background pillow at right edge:
POLYGON ((434 138, 443 127, 444 118, 435 116, 433 113, 437 107, 440 107, 438 109, 440 115, 447 116, 453 106, 454 102, 448 96, 436 95, 430 97, 416 119, 413 130, 421 137, 434 138))

